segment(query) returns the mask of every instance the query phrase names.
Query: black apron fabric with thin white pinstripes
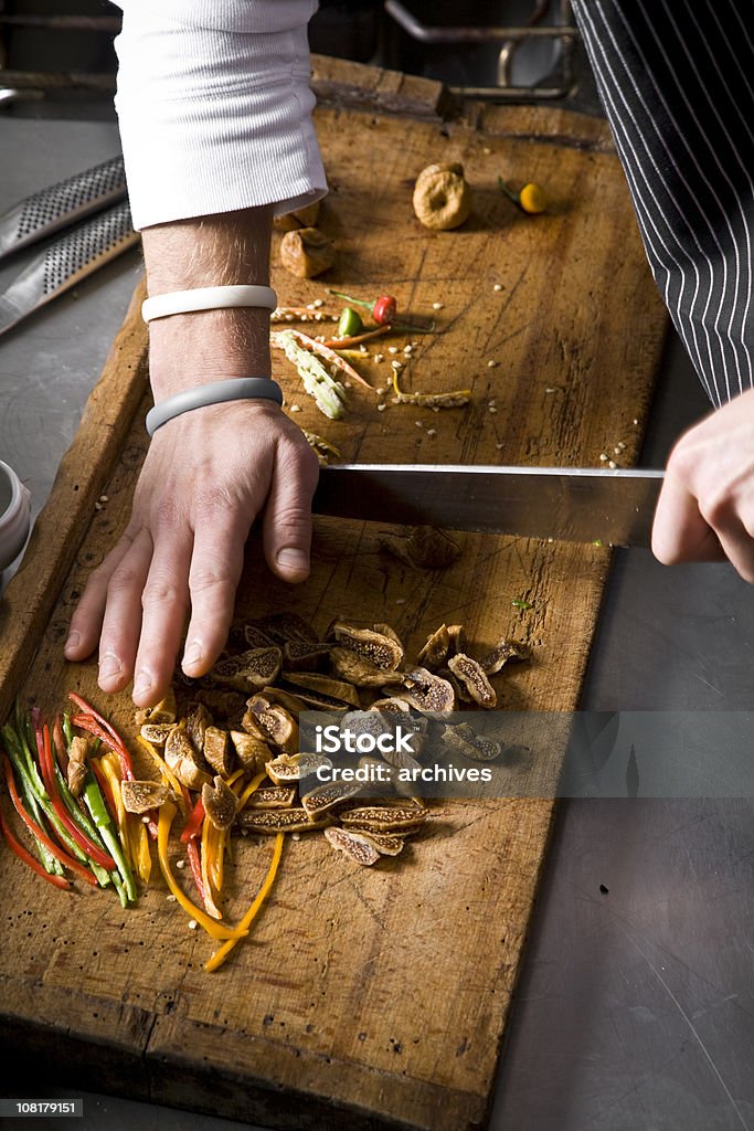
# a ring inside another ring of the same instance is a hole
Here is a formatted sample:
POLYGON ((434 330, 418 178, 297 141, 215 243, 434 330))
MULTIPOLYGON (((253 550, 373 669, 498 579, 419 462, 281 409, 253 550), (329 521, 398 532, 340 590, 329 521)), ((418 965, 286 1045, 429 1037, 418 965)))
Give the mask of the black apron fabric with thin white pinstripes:
POLYGON ((647 256, 714 405, 754 386, 754 0, 573 0, 647 256))

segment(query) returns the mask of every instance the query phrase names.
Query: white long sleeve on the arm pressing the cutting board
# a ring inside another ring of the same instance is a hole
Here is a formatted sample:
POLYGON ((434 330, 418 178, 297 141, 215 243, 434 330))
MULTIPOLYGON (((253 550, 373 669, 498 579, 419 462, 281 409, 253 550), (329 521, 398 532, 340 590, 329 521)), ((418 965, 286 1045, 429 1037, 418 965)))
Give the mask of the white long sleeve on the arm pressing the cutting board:
POLYGON ((118 109, 137 228, 327 191, 306 25, 317 0, 120 0, 118 109))

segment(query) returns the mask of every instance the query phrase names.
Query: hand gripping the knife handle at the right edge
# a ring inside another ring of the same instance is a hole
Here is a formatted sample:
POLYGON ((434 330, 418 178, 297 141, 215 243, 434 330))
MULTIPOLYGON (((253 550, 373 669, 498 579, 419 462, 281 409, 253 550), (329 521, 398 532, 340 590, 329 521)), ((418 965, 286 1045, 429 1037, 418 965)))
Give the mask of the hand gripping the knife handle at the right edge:
POLYGON ((668 460, 652 551, 664 564, 728 559, 754 582, 754 389, 690 429, 668 460))

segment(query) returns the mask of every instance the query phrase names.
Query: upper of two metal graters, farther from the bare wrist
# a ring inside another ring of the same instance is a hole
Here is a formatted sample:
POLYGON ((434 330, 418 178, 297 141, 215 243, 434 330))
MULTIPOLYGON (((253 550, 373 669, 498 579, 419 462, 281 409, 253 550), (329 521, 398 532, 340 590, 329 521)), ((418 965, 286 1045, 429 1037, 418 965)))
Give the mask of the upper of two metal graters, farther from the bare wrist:
POLYGON ((84 173, 26 197, 0 216, 0 258, 125 196, 123 158, 113 157, 84 173))

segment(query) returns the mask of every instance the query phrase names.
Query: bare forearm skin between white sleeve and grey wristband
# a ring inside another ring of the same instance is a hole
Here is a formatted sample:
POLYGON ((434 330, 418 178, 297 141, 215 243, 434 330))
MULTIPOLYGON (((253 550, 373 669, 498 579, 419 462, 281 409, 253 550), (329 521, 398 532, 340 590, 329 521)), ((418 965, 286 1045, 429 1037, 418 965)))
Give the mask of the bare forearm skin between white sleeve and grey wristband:
MULTIPOLYGON (((175 221, 144 230, 150 295, 269 282, 271 208, 175 221)), ((149 325, 155 400, 234 377, 269 377, 269 311, 196 311, 149 325)))

